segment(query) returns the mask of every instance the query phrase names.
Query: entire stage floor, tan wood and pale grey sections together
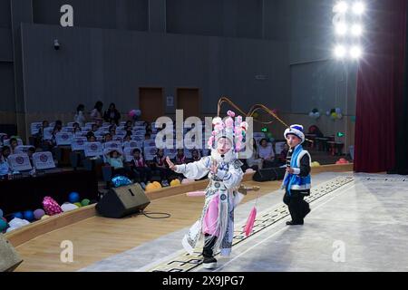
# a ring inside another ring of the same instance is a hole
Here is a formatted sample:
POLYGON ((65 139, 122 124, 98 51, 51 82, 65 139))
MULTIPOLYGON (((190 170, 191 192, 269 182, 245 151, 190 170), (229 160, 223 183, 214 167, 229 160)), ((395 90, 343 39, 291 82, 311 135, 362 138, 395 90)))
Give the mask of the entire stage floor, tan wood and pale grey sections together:
MULTIPOLYGON (((217 256, 214 271, 408 270, 408 178, 317 174, 308 198, 312 212, 304 226, 296 227, 285 225, 290 217, 279 183, 258 185, 262 190, 254 233, 242 235, 255 204, 252 194, 236 210, 232 255, 217 256)), ((207 271, 200 265, 199 249, 189 256, 180 244, 201 206, 202 198, 178 195, 153 200, 148 208, 170 212, 168 219, 95 217, 63 227, 17 247, 25 260, 18 270, 207 271), (63 239, 73 239, 73 263, 58 261, 58 241, 63 239)))

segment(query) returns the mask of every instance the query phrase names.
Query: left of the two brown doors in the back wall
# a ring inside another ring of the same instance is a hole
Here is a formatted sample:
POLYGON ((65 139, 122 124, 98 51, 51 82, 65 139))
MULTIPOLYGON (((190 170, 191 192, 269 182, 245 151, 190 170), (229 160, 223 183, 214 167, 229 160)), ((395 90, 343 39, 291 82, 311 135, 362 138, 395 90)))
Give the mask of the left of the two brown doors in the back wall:
POLYGON ((164 101, 162 88, 140 88, 139 104, 141 121, 156 121, 164 116, 164 101))

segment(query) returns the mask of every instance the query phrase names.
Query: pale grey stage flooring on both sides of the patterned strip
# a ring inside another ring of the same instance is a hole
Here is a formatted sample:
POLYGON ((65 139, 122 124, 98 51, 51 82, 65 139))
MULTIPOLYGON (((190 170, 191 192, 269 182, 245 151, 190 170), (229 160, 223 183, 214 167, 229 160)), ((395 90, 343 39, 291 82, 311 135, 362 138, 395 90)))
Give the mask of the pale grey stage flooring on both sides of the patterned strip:
MULTIPOLYGON (((323 173, 318 183, 339 175, 323 173)), ((282 220, 233 247, 216 271, 407 271, 408 179, 355 175, 355 182, 312 203, 305 226, 282 220), (369 178, 369 179, 368 179, 369 178)), ((276 207, 282 193, 259 198, 258 212, 276 207)), ((253 202, 236 211, 245 222, 253 202)), ((104 259, 82 271, 144 271, 183 253, 187 228, 104 259)), ((205 271, 197 268, 198 271, 205 271)))

